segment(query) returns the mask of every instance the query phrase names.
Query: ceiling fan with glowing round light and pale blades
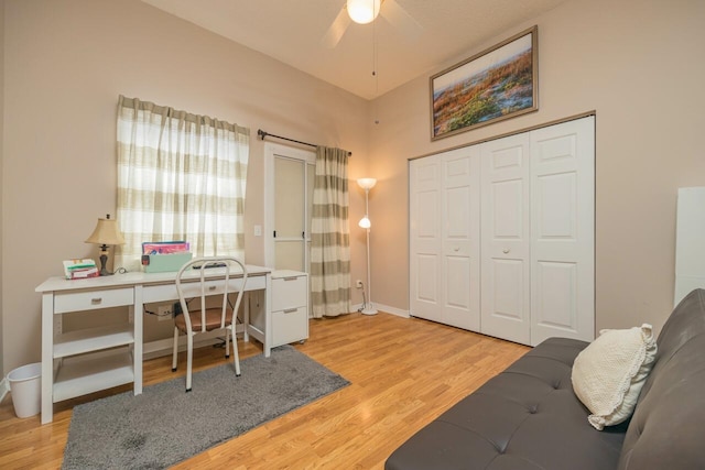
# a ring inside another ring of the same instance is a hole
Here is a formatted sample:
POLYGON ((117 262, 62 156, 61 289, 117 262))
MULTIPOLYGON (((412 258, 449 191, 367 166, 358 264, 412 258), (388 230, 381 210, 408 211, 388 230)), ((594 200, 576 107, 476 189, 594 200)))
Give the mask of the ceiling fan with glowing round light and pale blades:
POLYGON ((321 43, 333 48, 340 42, 350 21, 368 24, 375 21, 379 14, 410 39, 421 34, 421 25, 397 3, 397 0, 347 0, 321 43))

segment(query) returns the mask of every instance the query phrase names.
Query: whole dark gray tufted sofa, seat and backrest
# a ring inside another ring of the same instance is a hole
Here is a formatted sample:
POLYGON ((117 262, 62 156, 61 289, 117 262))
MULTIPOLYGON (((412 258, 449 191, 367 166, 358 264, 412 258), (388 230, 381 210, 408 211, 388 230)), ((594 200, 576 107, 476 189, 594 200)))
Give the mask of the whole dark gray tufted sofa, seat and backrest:
POLYGON ((417 431, 387 470, 705 469, 705 291, 688 294, 657 340, 631 420, 596 430, 573 393, 587 342, 551 338, 417 431))

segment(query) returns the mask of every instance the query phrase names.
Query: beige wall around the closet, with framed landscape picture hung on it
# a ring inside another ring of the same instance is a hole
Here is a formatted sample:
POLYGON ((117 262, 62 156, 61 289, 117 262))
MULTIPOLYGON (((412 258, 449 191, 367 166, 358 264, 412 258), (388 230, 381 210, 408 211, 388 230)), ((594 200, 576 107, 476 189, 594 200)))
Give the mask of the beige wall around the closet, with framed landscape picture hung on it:
POLYGON ((597 328, 660 328, 673 302, 676 189, 705 185, 705 2, 575 0, 445 66, 533 24, 535 113, 431 142, 427 76, 443 66, 379 99, 381 124, 370 134, 370 173, 380 178, 370 195, 376 300, 409 308, 406 159, 596 110, 597 328))

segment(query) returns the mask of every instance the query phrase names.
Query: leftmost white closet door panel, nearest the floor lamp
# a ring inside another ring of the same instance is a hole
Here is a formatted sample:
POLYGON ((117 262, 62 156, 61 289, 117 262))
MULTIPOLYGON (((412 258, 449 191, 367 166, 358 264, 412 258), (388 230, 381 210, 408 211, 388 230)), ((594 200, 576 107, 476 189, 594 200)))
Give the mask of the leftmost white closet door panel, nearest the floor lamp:
POLYGON ((414 317, 442 321, 441 159, 409 164, 410 309, 414 317))

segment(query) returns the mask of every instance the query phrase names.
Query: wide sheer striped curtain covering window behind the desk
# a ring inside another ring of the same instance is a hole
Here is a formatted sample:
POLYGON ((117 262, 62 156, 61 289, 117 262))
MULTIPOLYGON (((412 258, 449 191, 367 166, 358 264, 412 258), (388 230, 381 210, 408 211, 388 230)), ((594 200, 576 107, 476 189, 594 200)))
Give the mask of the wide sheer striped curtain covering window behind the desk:
POLYGON ((120 96, 116 267, 144 241, 185 240, 194 256, 245 259, 247 128, 120 96))

